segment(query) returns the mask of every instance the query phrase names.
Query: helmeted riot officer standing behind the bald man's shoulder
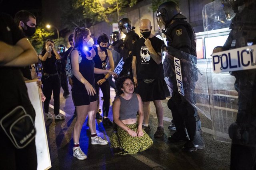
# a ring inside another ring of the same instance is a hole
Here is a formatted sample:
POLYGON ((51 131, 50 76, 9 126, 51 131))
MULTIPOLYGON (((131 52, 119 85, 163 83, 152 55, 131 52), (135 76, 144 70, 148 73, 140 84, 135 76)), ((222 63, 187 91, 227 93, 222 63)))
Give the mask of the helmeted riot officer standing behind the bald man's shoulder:
MULTIPOLYGON (((128 18, 122 18, 118 22, 118 29, 120 34, 124 33, 126 35, 124 39, 124 44, 122 47, 122 50, 120 51, 121 57, 123 58, 124 65, 123 69, 120 72, 119 76, 122 76, 124 74, 128 74, 128 72, 132 71, 132 56, 130 56, 130 53, 132 52, 132 45, 133 43, 138 40, 140 37, 133 29, 135 29, 134 26, 132 26, 131 21, 128 18)), ((131 73, 130 73, 131 74, 131 73)), ((132 75, 132 74, 131 74, 132 75)))

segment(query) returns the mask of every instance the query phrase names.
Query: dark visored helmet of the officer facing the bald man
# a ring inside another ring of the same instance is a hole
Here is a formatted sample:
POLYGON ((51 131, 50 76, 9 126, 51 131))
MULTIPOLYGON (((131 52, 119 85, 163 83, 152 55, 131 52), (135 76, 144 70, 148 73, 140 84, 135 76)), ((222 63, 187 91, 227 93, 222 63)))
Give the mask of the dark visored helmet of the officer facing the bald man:
POLYGON ((158 23, 158 28, 160 31, 165 30, 167 25, 173 19, 186 19, 186 16, 181 14, 179 6, 176 2, 168 1, 162 3, 156 12, 156 19, 158 23))

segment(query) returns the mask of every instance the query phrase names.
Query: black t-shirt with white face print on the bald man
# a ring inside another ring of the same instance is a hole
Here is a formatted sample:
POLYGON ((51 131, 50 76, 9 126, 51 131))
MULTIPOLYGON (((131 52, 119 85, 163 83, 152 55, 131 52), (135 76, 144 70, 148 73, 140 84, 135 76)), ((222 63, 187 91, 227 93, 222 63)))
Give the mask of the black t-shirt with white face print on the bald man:
MULTIPOLYGON (((164 42, 155 36, 150 38, 149 40, 156 53, 161 53, 161 47, 164 42)), ((156 64, 152 57, 150 57, 150 53, 145 45, 145 39, 143 37, 135 41, 131 55, 136 56, 137 79, 164 78, 163 64, 156 64)))

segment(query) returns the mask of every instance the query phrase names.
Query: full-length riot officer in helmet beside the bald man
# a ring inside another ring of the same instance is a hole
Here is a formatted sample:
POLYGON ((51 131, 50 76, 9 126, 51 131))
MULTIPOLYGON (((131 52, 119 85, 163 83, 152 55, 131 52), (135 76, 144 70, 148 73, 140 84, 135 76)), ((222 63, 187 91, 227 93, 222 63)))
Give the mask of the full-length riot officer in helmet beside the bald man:
MULTIPOLYGON (((188 53, 188 55, 190 54, 192 57, 187 59, 190 60, 187 63, 194 63, 194 65, 189 64, 183 67, 182 70, 183 81, 186 81, 186 83, 184 83, 184 89, 186 94, 189 94, 190 99, 192 99, 188 101, 185 96, 180 95, 178 92, 176 75, 175 72, 172 71, 174 70, 174 58, 172 57, 171 59, 171 57, 168 57, 171 66, 170 70, 167 71, 172 72, 172 76, 169 76, 169 81, 173 84, 172 98, 168 101, 168 107, 172 111, 172 117, 176 126, 176 132, 168 137, 168 140, 170 142, 187 141, 183 147, 183 150, 186 152, 204 149, 200 117, 197 110, 192 106, 192 104, 195 104, 194 88, 198 78, 197 71, 195 71, 196 35, 194 29, 189 23, 184 21, 186 17, 181 14, 180 8, 175 2, 169 1, 161 4, 157 9, 156 16, 159 30, 167 37, 168 47, 182 51, 181 53, 185 52, 188 53)), ((171 51, 169 51, 168 54, 168 56, 172 56, 171 51)), ((178 57, 182 59, 183 56, 178 57)))

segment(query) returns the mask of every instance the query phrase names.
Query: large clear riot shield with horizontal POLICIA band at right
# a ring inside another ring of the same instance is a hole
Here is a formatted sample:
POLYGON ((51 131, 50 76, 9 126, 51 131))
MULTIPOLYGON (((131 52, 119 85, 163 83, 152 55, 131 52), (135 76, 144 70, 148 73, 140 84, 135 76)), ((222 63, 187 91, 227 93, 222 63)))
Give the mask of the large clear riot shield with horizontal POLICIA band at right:
MULTIPOLYGON (((229 27, 231 21, 227 20, 225 10, 221 0, 204 6, 204 30, 229 27)), ((246 12, 240 13, 238 17, 243 17, 244 14, 246 12)), ((250 39, 256 38, 256 21, 255 17, 244 17, 234 23, 235 19, 236 16, 230 32, 233 39, 230 41, 228 37, 230 44, 232 43, 230 50, 214 53, 210 59, 211 72, 207 78, 214 139, 255 145, 256 45, 253 45, 253 41, 250 43, 250 39), (246 42, 244 46, 241 41, 246 42)))

